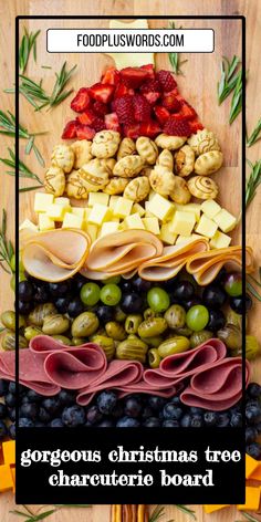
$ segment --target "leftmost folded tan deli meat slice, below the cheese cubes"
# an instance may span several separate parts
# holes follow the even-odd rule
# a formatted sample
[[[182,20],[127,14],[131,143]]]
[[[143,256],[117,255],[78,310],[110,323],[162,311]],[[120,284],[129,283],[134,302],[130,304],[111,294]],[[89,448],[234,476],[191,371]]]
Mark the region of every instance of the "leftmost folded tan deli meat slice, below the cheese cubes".
[[[72,278],[83,267],[90,250],[90,237],[77,229],[39,232],[22,250],[24,269],[34,278],[59,282]]]

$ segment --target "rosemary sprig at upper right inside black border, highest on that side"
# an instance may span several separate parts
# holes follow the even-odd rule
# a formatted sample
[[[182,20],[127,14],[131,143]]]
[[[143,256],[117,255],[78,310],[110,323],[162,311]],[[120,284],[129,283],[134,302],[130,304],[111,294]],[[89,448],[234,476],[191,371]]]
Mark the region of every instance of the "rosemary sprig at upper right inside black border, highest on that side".
[[[221,103],[229,96],[229,94],[234,90],[240,72],[238,65],[240,60],[238,56],[233,56],[231,62],[223,56],[221,62],[221,79],[218,82],[218,103]]]

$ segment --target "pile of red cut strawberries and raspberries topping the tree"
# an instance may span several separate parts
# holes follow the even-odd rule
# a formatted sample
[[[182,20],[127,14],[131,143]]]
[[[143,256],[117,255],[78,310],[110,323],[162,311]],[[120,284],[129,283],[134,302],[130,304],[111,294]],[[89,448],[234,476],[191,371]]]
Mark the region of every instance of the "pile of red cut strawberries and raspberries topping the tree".
[[[65,125],[63,139],[92,139],[103,129],[136,139],[160,133],[190,136],[203,128],[194,107],[179,94],[174,74],[156,72],[150,64],[107,69],[101,82],[79,90],[71,108],[76,117]]]

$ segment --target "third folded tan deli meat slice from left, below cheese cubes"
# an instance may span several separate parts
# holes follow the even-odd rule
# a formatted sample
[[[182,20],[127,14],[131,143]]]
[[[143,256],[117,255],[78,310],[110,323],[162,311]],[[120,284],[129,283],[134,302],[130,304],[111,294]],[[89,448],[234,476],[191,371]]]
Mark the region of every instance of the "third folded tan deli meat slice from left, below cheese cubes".
[[[209,243],[206,239],[165,247],[161,255],[139,265],[138,274],[148,281],[166,281],[177,275],[188,259],[194,259],[196,254],[205,253],[207,250],[209,250]]]

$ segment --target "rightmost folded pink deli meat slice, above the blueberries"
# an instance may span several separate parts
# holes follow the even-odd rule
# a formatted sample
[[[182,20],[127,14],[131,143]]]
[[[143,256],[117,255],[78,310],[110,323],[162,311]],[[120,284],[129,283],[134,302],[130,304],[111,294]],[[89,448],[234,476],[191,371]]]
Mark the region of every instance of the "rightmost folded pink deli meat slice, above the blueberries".
[[[246,361],[246,386],[250,378],[250,365]],[[242,359],[228,357],[212,368],[194,375],[181,393],[181,401],[188,406],[220,411],[233,406],[242,395]]]

